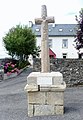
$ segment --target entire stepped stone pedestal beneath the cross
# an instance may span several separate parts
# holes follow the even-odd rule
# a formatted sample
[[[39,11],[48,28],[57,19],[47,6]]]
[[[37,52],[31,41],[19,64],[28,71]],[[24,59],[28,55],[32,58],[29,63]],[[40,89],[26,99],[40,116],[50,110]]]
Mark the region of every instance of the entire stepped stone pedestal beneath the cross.
[[[60,72],[32,72],[27,77],[28,116],[64,113],[66,84]]]

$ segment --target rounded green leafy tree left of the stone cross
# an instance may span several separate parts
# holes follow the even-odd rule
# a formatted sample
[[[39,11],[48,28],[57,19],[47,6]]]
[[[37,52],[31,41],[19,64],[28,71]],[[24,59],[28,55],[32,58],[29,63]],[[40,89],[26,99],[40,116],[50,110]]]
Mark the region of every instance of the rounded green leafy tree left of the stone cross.
[[[38,54],[35,52],[37,50],[36,36],[27,26],[17,25],[12,27],[3,37],[3,42],[12,58],[17,57],[26,60],[28,55]]]

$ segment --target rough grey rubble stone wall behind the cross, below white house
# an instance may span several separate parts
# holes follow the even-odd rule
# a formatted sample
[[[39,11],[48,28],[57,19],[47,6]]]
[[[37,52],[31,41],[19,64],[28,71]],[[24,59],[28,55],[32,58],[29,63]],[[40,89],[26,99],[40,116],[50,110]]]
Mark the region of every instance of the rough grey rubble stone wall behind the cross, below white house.
[[[63,74],[68,86],[83,85],[83,59],[51,59],[51,71]],[[34,59],[34,71],[41,71],[40,59]]]

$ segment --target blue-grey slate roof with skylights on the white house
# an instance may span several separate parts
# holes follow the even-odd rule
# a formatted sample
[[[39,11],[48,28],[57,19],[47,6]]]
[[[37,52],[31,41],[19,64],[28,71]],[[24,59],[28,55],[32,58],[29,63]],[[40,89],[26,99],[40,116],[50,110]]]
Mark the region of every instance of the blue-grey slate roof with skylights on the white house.
[[[36,36],[41,36],[41,25],[32,25],[32,30]],[[49,24],[49,36],[75,36],[76,24]]]

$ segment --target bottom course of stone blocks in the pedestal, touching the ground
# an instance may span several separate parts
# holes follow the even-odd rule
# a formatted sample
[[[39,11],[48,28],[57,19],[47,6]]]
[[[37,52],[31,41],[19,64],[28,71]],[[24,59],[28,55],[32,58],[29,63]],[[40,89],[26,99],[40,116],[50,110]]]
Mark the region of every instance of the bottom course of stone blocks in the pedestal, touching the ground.
[[[28,116],[63,115],[64,106],[28,104]]]

